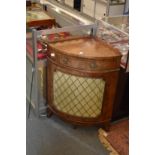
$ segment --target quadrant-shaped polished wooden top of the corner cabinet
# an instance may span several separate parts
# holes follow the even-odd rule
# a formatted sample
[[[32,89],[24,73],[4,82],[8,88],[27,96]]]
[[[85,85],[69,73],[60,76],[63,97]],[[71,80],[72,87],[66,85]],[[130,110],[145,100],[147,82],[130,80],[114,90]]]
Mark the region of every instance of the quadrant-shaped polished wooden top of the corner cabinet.
[[[49,46],[53,50],[64,54],[85,58],[111,58],[121,56],[117,49],[94,37],[65,40],[51,43]]]

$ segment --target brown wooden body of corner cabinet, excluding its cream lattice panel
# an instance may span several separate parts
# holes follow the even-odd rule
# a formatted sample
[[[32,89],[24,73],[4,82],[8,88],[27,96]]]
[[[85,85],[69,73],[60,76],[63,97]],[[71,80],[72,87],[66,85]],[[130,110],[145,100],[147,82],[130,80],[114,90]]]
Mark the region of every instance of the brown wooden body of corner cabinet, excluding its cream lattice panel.
[[[82,54],[81,54],[82,52]],[[109,129],[116,92],[121,54],[105,42],[94,37],[81,37],[48,44],[47,83],[48,114],[55,113],[74,125],[100,124]],[[54,73],[103,79],[106,82],[100,115],[85,118],[69,115],[54,104]],[[80,104],[80,103],[79,103]]]

